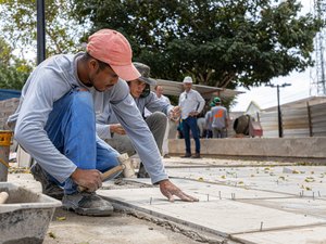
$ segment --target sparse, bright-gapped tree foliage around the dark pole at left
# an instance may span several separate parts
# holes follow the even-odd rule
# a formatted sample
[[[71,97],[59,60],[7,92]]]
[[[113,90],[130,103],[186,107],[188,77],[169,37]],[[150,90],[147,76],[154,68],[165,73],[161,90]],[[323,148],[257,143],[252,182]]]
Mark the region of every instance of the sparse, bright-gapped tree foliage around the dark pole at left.
[[[68,1],[45,4],[47,56],[80,49],[85,28],[71,18]],[[0,0],[0,88],[21,89],[36,65],[28,56],[36,53],[36,0]],[[14,50],[20,53],[14,55]]]

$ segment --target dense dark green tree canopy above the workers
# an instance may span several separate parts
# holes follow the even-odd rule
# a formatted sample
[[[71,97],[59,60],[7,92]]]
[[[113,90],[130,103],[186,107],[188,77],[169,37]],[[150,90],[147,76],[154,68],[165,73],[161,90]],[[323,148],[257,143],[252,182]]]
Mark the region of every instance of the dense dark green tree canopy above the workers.
[[[313,64],[322,22],[296,0],[74,0],[91,31],[113,28],[153,77],[228,87],[259,86]]]

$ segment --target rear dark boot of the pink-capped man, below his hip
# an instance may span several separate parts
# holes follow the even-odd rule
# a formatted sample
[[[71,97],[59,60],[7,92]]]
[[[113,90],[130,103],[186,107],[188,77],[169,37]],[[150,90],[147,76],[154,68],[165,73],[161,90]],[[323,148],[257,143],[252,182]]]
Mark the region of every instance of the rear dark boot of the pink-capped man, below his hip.
[[[41,183],[43,194],[55,200],[62,200],[63,189],[55,182],[49,180],[47,172],[39,166],[39,164],[34,164],[30,168],[30,172],[34,179]]]

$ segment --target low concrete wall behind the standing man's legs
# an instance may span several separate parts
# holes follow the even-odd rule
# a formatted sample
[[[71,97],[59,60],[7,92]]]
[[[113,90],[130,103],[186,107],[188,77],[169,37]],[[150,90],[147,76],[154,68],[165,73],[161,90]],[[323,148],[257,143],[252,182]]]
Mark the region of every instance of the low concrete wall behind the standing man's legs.
[[[183,139],[168,140],[170,154],[185,154]],[[195,142],[191,140],[195,152]],[[326,138],[227,138],[201,139],[201,154],[326,159]]]

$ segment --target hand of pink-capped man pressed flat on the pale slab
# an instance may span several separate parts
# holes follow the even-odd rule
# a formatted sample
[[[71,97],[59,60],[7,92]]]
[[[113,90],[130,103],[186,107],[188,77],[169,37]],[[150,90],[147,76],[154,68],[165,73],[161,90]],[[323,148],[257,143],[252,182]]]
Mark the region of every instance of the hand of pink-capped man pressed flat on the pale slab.
[[[165,195],[170,202],[174,202],[174,195],[178,196],[181,201],[185,202],[198,202],[199,200],[187,195],[180,189],[178,189],[175,184],[173,184],[170,180],[162,180],[159,182],[160,190],[163,195]]]

